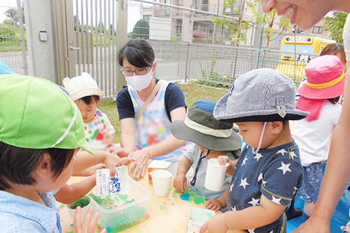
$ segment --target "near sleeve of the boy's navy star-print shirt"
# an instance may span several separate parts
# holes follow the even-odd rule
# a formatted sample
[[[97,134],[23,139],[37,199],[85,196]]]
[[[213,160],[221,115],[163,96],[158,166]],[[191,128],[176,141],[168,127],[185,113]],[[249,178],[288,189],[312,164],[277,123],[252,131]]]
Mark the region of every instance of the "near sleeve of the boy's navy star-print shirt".
[[[288,206],[301,186],[303,169],[291,159],[280,159],[263,174],[261,193],[271,201]]]

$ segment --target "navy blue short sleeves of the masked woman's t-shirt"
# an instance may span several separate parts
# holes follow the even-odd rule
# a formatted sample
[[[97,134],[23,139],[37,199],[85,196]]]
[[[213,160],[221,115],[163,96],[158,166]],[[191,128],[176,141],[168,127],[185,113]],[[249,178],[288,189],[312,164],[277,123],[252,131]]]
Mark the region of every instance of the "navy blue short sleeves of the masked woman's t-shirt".
[[[159,79],[156,79],[156,82],[158,81]],[[128,92],[128,87],[119,91],[116,101],[119,121],[124,118],[135,118],[135,110]],[[167,112],[167,118],[170,121],[172,121],[170,112],[180,107],[187,107],[185,96],[183,95],[183,91],[176,84],[171,82],[165,90],[165,110]]]

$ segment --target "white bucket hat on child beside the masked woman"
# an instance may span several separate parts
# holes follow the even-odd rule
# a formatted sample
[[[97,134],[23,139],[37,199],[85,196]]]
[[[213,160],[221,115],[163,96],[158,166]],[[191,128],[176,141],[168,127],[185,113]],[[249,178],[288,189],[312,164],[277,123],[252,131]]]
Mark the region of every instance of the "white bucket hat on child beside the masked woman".
[[[98,88],[95,79],[86,72],[72,78],[65,77],[63,85],[73,101],[91,95],[98,95],[100,98],[104,97],[104,92]]]

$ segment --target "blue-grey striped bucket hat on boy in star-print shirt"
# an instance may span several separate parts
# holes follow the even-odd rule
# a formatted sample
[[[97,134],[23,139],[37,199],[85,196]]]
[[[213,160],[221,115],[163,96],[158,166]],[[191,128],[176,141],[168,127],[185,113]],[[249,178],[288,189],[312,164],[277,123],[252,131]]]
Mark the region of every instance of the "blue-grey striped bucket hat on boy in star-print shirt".
[[[308,114],[295,109],[294,82],[266,68],[240,75],[213,112],[215,119],[228,122],[300,120]]]

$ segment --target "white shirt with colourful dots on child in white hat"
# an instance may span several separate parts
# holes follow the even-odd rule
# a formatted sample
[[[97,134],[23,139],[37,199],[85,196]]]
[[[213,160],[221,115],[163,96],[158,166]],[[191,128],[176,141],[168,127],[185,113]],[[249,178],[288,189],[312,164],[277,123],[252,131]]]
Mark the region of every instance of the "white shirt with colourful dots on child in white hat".
[[[105,149],[109,135],[115,134],[115,128],[108,116],[96,109],[93,121],[84,123],[85,140],[91,149]]]

